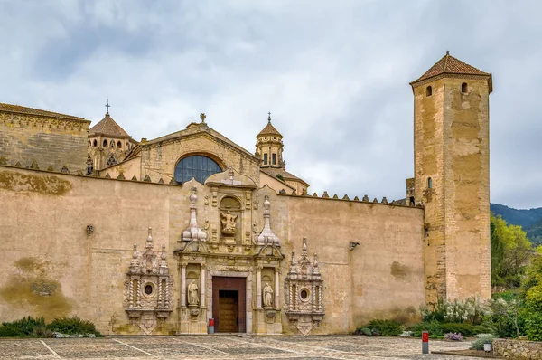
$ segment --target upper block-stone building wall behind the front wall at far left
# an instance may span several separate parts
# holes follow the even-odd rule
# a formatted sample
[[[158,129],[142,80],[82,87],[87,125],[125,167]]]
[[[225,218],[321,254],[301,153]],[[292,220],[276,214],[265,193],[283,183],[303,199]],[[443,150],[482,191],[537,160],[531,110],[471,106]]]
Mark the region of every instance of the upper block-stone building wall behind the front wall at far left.
[[[9,165],[85,172],[90,121],[0,112],[0,156]]]

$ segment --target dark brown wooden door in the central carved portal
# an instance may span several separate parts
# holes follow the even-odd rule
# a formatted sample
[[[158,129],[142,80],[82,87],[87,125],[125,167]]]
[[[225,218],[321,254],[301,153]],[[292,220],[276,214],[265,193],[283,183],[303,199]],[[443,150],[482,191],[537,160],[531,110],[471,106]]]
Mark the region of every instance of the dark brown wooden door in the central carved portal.
[[[212,316],[218,333],[244,333],[246,279],[212,278]]]

